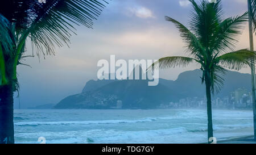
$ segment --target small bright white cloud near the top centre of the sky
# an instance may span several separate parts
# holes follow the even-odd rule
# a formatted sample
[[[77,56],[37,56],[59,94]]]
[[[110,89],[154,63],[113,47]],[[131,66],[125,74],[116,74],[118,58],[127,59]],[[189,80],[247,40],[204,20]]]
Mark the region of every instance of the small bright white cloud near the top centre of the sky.
[[[151,10],[146,7],[129,8],[129,15],[135,15],[139,18],[154,18]]]

